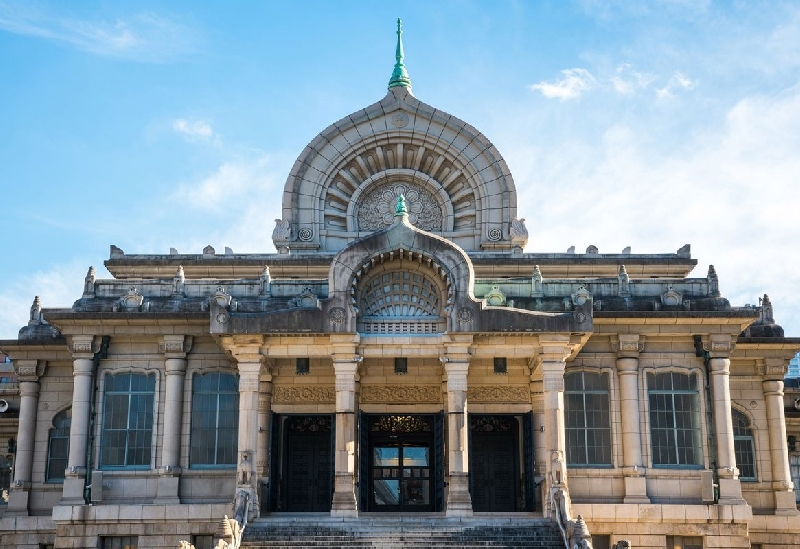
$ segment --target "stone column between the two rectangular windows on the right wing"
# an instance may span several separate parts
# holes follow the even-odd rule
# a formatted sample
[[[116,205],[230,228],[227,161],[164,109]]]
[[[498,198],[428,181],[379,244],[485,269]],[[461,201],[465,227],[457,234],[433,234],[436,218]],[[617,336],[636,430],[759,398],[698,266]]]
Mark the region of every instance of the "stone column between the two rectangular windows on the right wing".
[[[622,472],[625,476],[624,503],[650,503],[642,463],[642,435],[639,427],[639,353],[644,336],[619,334],[611,341],[617,352],[620,415],[622,416]]]

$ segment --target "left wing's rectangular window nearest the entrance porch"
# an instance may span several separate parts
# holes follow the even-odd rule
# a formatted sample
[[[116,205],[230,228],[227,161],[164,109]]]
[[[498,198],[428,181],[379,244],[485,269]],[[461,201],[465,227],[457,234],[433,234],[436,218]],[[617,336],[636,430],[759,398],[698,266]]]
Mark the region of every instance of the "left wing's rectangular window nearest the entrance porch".
[[[192,467],[236,466],[239,378],[221,372],[192,378]]]

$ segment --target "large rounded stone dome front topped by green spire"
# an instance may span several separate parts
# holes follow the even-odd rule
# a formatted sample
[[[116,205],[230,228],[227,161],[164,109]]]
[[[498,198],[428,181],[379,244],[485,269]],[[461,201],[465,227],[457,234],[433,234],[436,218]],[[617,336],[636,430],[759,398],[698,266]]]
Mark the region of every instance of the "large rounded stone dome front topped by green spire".
[[[339,251],[390,225],[400,194],[414,226],[468,252],[524,246],[508,166],[477,129],[414,97],[399,21],[397,32],[386,96],[328,126],[295,162],[275,247]]]

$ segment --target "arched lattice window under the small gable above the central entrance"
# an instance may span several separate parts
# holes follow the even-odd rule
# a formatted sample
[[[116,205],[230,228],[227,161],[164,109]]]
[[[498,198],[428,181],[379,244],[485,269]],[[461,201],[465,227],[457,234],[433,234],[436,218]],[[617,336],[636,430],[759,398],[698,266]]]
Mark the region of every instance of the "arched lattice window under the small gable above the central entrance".
[[[398,262],[402,267],[403,262]],[[445,329],[444,285],[425,270],[378,268],[358,285],[358,329],[372,334],[425,334]]]

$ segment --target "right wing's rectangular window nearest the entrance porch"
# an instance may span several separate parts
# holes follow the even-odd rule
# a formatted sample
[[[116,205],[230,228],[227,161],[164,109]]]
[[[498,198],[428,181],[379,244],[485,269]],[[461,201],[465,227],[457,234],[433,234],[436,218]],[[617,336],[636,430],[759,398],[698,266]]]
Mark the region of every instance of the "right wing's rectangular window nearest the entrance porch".
[[[564,376],[568,465],[611,465],[608,374]]]

